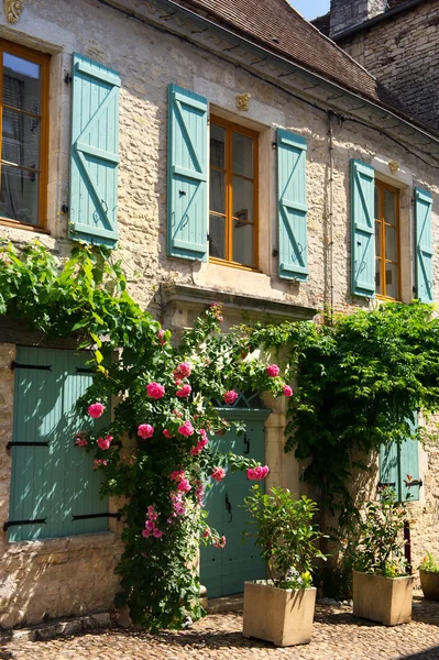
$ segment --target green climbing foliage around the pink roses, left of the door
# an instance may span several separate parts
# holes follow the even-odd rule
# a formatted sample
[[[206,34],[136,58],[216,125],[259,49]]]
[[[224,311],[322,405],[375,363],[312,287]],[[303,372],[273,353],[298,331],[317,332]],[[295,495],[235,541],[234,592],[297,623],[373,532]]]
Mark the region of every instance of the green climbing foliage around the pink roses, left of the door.
[[[76,245],[59,265],[40,243],[20,254],[3,243],[0,314],[24,319],[48,337],[77,334],[80,346],[91,351],[94,382],[77,404],[78,415],[86,417],[90,404],[108,406],[111,398],[112,421],[100,433],[112,441],[102,449],[101,439],[83,432],[76,443],[77,451],[92,451],[96,469],[105,472],[102,492],[125,501],[117,605],[127,604],[132,620],[149,630],[179,628],[188,615],[196,619],[204,614],[193,568],[199,542],[222,542],[220,532],[207,526],[204,487],[213,469],[227,462],[232,470],[257,465],[209,447],[198,452],[197,444],[229,428],[216,408],[227,391],[276,396],[284,382],[248,358],[245,336],[220,331],[216,304],[184,333],[180,345],[172,345],[171,332],[130,297],[121,265],[111,255],[103,248]],[[174,372],[182,362],[190,374],[179,377]],[[154,382],[165,388],[162,398],[147,395],[146,386]],[[178,397],[182,384],[189,383],[190,394]],[[194,429],[190,435],[179,431],[185,422]],[[152,437],[142,439],[140,425],[151,425]],[[186,480],[188,492],[171,479],[175,472]],[[149,512],[158,536],[147,534]]]

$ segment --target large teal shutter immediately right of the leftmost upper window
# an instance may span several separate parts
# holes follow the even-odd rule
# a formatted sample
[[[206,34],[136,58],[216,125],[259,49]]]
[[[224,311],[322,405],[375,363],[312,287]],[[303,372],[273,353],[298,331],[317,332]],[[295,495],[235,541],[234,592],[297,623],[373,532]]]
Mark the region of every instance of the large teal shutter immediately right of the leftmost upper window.
[[[119,75],[74,54],[70,239],[118,241]]]

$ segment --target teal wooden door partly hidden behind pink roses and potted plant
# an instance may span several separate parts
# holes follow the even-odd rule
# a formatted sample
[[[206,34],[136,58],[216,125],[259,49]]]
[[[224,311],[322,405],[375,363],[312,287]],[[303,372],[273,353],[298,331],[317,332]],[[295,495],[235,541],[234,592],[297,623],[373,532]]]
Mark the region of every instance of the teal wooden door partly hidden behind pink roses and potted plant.
[[[246,433],[237,436],[230,431],[212,441],[221,451],[232,450],[265,462],[264,420],[249,419]],[[241,593],[245,580],[263,580],[265,563],[251,538],[242,541],[249,515],[243,508],[244,497],[255,482],[248,481],[245,472],[227,472],[226,479],[207,491],[206,508],[208,525],[227,539],[226,548],[201,547],[200,581],[209,598]]]

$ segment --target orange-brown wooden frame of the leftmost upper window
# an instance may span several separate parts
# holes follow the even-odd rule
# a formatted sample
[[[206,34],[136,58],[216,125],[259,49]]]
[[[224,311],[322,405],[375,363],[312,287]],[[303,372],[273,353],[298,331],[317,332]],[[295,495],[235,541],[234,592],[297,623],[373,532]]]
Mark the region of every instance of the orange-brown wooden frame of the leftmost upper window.
[[[11,106],[4,106],[8,109],[12,109],[17,112],[22,112],[26,116],[35,117],[40,120],[40,163],[35,172],[40,175],[40,189],[39,189],[39,224],[28,224],[20,220],[11,218],[2,218],[0,216],[0,224],[7,227],[17,227],[25,229],[28,231],[39,231],[48,233],[46,229],[46,211],[47,211],[47,183],[48,183],[48,81],[50,81],[50,65],[51,56],[46,53],[40,53],[25,46],[14,44],[7,40],[0,38],[0,127],[3,125],[3,53],[11,53],[17,57],[23,57],[34,64],[41,66],[41,114],[33,114],[32,112],[18,110]],[[3,131],[0,131],[0,177],[1,166],[3,165],[2,155],[2,142]],[[25,167],[23,167],[25,169]]]

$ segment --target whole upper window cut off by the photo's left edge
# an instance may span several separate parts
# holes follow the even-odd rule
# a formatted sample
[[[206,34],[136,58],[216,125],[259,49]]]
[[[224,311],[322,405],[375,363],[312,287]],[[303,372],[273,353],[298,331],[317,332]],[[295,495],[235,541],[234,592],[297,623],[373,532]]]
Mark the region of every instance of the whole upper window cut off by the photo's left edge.
[[[0,40],[0,220],[43,227],[48,144],[48,55]]]

